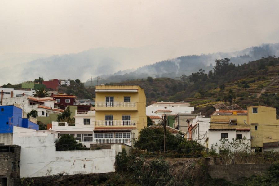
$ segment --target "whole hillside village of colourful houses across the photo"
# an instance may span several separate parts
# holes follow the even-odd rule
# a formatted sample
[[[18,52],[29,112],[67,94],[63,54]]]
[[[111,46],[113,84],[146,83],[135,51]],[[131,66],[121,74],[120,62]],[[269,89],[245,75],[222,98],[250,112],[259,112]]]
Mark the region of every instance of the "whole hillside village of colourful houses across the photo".
[[[0,184],[14,185],[24,177],[114,172],[117,154],[122,149],[130,154],[145,128],[165,128],[217,154],[237,140],[241,143],[232,151],[279,150],[279,120],[272,107],[243,109],[218,103],[205,117],[183,100],[146,106],[139,86],[101,84],[92,101],[57,92],[58,85],[68,84],[69,80],[54,79],[42,84],[27,81],[21,90],[0,88]],[[44,88],[45,97],[38,96]],[[74,120],[58,120],[66,112]],[[46,129],[39,129],[38,123]],[[64,134],[90,150],[59,150],[55,142]]]

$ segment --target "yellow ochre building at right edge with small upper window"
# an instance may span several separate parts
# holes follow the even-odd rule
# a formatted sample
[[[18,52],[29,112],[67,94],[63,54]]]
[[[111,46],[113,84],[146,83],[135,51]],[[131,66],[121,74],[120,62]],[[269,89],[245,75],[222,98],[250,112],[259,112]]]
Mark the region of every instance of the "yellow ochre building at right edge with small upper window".
[[[250,128],[251,147],[260,150],[279,148],[279,120],[276,109],[266,106],[250,106],[247,110],[219,110],[211,115],[210,129]],[[210,138],[210,137],[209,137]]]

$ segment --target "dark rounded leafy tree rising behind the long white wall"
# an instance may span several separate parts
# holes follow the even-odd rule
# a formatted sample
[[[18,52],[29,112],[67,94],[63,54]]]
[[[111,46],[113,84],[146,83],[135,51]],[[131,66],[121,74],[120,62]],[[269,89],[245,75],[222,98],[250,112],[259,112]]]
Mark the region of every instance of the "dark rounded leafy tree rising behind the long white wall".
[[[78,143],[75,138],[69,134],[60,136],[55,141],[56,151],[72,151],[72,150],[89,150],[82,143]]]

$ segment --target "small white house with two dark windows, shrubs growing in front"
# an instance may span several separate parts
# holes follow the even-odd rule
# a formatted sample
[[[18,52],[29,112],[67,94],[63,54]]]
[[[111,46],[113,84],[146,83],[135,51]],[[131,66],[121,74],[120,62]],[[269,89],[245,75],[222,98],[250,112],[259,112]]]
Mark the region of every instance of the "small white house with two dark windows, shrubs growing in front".
[[[221,139],[228,139],[225,144],[222,144]],[[234,140],[243,140],[246,145],[239,143],[237,148],[233,147],[229,143],[233,143]],[[239,141],[240,142],[240,141]],[[235,142],[237,143],[237,142]],[[213,148],[219,153],[220,150],[224,148],[230,148],[231,151],[250,151],[251,148],[251,131],[250,129],[209,129],[209,141],[208,141],[209,149]],[[247,146],[249,148],[247,148]]]

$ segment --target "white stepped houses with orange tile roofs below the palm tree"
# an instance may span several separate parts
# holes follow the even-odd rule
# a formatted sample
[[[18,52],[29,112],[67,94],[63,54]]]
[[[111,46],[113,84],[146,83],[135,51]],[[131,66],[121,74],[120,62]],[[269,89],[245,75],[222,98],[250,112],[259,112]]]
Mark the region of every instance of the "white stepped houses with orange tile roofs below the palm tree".
[[[38,98],[32,96],[20,96],[13,98],[3,98],[2,105],[18,105],[23,111],[23,118],[27,118],[27,113],[32,110],[38,111],[38,116],[49,116],[53,113],[62,113],[59,104],[51,97]]]

